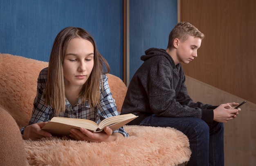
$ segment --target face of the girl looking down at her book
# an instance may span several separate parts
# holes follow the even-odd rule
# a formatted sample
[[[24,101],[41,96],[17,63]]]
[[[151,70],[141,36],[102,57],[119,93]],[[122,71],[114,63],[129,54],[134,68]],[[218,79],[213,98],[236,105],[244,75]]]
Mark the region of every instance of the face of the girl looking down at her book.
[[[90,41],[82,38],[70,40],[63,61],[65,88],[81,88],[92,73],[94,48]]]

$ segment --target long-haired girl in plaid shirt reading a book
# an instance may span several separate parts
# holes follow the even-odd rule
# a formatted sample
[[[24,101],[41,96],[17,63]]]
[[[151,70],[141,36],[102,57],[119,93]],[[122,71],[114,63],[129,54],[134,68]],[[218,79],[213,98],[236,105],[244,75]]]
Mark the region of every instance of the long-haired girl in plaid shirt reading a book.
[[[51,137],[41,128],[54,116],[82,118],[99,123],[118,115],[115,100],[108,86],[108,62],[96,48],[92,36],[81,28],[67,27],[54,40],[49,66],[38,77],[29,125],[20,129],[24,139]],[[129,137],[121,127],[112,131],[92,133],[85,128],[70,130],[76,140],[102,142]]]

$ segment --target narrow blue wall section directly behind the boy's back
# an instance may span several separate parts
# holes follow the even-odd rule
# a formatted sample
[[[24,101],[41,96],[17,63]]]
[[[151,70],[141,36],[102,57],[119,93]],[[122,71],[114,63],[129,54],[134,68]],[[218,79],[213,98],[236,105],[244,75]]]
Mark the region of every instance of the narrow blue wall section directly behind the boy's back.
[[[130,80],[144,51],[166,49],[168,36],[177,24],[177,0],[130,0]]]

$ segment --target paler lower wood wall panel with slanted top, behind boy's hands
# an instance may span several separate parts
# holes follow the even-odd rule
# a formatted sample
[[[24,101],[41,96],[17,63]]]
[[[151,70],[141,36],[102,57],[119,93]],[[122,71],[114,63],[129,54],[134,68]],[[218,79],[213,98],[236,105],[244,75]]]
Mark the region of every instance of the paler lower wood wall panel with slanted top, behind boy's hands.
[[[194,102],[219,105],[245,100],[188,76],[186,86]],[[236,119],[224,124],[225,166],[255,166],[256,163],[256,104],[247,102],[241,110]]]

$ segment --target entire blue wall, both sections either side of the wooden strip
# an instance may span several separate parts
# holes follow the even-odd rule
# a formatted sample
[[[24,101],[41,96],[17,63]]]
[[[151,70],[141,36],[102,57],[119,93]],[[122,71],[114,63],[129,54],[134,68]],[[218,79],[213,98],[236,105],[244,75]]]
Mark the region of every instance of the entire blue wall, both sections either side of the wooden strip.
[[[150,47],[166,49],[177,0],[130,0],[130,79]],[[1,0],[0,53],[48,61],[61,29],[86,29],[123,79],[123,0]]]

